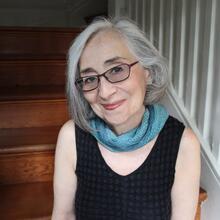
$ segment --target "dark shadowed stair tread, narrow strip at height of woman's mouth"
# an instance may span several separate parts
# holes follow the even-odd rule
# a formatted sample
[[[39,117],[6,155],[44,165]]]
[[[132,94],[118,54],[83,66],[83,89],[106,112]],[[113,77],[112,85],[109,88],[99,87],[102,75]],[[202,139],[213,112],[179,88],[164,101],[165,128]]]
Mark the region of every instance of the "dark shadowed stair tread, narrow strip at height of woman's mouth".
[[[1,87],[0,101],[64,99],[65,86],[18,86]]]

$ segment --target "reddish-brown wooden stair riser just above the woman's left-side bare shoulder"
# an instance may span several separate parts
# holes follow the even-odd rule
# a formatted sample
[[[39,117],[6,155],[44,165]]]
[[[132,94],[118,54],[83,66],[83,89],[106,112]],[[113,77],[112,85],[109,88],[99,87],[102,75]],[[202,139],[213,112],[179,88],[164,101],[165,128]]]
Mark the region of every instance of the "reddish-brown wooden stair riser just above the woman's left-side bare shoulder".
[[[0,102],[0,129],[59,126],[67,120],[64,99]]]

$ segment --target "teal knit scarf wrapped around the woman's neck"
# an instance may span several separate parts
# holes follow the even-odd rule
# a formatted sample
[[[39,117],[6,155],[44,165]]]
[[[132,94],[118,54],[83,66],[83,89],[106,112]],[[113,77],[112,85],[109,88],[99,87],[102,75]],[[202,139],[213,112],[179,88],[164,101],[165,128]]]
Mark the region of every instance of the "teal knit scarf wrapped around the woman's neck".
[[[150,105],[146,108],[140,125],[117,136],[100,118],[90,121],[92,135],[104,147],[112,152],[133,151],[153,140],[163,128],[168,113],[162,105]]]

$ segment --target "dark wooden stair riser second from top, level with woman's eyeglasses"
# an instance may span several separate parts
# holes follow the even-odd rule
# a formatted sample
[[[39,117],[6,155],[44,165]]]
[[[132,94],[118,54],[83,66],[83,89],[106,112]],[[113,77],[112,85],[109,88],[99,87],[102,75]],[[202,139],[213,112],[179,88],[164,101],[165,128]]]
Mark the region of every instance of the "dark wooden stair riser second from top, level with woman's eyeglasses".
[[[0,61],[0,86],[64,85],[66,60]]]

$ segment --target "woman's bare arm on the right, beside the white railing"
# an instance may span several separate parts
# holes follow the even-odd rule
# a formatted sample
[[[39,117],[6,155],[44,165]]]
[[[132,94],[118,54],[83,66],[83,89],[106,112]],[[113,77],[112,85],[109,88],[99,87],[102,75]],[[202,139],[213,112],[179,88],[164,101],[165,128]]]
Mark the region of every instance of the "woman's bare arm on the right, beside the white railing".
[[[185,129],[176,162],[172,188],[172,220],[194,220],[199,196],[200,144],[191,129]]]

